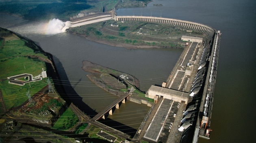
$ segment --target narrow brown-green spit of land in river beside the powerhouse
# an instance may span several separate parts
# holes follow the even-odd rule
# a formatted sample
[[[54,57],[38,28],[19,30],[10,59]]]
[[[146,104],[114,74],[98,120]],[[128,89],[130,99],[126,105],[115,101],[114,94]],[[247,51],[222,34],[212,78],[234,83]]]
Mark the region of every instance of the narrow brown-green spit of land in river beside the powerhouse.
[[[141,100],[144,100],[145,103],[153,102],[152,99],[145,97],[144,91],[139,89],[139,80],[134,76],[96,63],[91,63],[90,61],[84,60],[82,63],[82,69],[91,73],[87,77],[109,93],[119,97],[130,94],[128,100],[137,103],[141,103]]]

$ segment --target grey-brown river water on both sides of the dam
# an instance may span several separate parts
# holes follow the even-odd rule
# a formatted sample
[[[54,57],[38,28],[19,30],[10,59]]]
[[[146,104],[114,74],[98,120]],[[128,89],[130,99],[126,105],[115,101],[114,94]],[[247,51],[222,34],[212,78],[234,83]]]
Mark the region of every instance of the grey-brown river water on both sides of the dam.
[[[163,6],[153,6],[163,4]],[[255,0],[153,0],[146,8],[124,8],[117,15],[143,15],[193,21],[221,30],[217,80],[211,118],[210,140],[199,143],[252,143],[254,138],[256,39]],[[10,29],[39,44],[54,56],[61,80],[69,80],[73,99],[96,112],[117,99],[90,82],[81,69],[88,60],[132,74],[141,90],[167,79],[182,50],[113,47],[85,40],[69,33],[41,34],[42,23],[0,15],[0,27]],[[69,93],[69,91],[67,91]],[[74,92],[70,93],[72,97]],[[127,102],[110,119],[137,129],[149,107]],[[139,118],[140,117],[140,118]],[[106,121],[108,122],[108,121]]]

